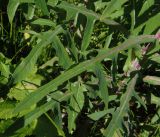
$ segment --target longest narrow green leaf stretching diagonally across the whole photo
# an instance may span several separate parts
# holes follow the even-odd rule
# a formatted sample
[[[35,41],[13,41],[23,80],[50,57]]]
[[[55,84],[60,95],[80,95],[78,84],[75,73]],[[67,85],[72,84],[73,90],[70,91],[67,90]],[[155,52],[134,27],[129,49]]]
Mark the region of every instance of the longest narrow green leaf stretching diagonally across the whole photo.
[[[118,54],[120,51],[126,50],[128,48],[131,48],[135,46],[136,44],[145,43],[145,42],[151,42],[154,41],[155,37],[153,35],[142,35],[134,38],[130,38],[126,40],[121,45],[111,48],[109,50],[106,50],[101,55],[98,55],[97,57],[86,60],[82,63],[79,63],[75,67],[67,70],[66,72],[59,75],[54,80],[48,82],[44,86],[40,87],[35,91],[34,93],[31,93],[28,95],[23,101],[21,101],[15,108],[15,113],[20,112],[32,104],[37,103],[40,101],[43,97],[45,97],[49,92],[54,91],[57,89],[59,85],[61,85],[63,82],[69,80],[70,78],[73,78],[82,72],[88,70],[92,65],[94,65],[97,62],[102,61],[103,59],[110,57],[111,55]]]

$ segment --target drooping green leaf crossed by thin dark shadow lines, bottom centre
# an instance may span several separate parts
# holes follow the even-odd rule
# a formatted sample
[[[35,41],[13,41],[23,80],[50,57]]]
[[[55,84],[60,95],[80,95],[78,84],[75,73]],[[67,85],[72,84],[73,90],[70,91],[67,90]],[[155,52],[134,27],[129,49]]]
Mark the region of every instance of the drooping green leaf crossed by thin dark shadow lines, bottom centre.
[[[70,98],[68,112],[68,130],[69,133],[72,133],[76,129],[76,118],[81,112],[84,105],[84,94],[85,91],[84,85],[81,85],[80,82],[73,83],[70,86],[70,91],[73,92],[73,96]]]

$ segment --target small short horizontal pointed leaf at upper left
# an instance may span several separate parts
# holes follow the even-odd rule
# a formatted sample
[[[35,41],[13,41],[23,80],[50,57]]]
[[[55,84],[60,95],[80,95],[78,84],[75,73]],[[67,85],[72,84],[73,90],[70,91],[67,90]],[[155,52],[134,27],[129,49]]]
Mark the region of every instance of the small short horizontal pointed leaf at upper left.
[[[36,24],[36,25],[46,25],[46,26],[51,26],[51,27],[55,27],[56,24],[49,20],[49,19],[43,19],[43,18],[38,18],[37,20],[34,20],[33,22],[31,22],[32,24]]]

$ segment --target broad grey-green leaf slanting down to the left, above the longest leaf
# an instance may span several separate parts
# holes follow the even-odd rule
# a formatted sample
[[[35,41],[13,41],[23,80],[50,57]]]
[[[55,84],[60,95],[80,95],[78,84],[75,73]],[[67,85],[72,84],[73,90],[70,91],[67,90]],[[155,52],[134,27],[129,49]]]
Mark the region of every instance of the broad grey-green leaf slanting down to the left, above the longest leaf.
[[[34,65],[40,55],[42,49],[53,42],[53,38],[58,33],[62,32],[62,28],[58,26],[54,31],[49,31],[43,37],[43,39],[38,43],[29,53],[29,55],[18,65],[13,73],[14,83],[25,80],[27,76],[32,72]]]

